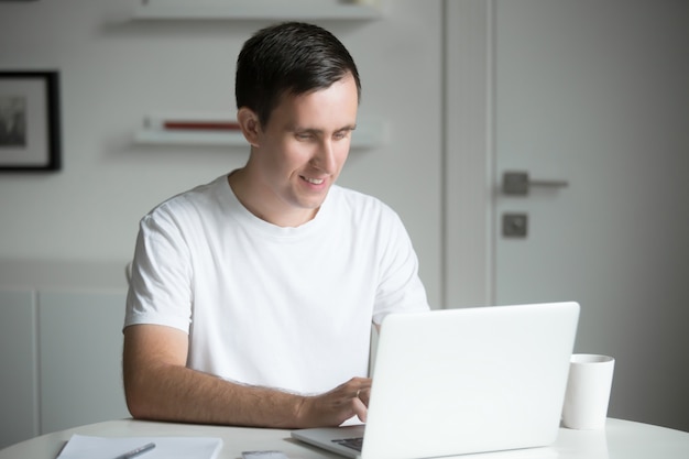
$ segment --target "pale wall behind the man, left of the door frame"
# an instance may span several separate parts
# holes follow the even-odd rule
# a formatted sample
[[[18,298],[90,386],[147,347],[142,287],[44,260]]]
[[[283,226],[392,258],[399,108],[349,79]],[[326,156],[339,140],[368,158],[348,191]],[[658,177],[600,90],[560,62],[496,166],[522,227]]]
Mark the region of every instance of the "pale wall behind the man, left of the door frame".
[[[45,266],[59,273],[63,263],[108,265],[107,282],[112,266],[130,259],[143,214],[247,159],[243,147],[142,146],[132,138],[151,112],[234,110],[237,54],[273,21],[133,21],[135,3],[0,3],[0,68],[61,72],[64,164],[56,174],[0,175],[0,286],[17,281],[18,263],[25,284],[50,282]],[[440,23],[439,1],[391,2],[379,21],[321,22],[358,62],[360,117],[391,127],[383,147],[351,153],[340,184],[401,214],[434,305],[441,269]]]

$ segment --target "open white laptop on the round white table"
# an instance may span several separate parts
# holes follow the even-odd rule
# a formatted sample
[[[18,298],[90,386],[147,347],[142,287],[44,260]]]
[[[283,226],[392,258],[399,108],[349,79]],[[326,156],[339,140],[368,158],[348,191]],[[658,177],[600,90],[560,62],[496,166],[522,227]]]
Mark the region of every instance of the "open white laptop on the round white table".
[[[390,315],[381,326],[361,451],[341,440],[363,435],[363,425],[292,437],[362,459],[551,445],[578,319],[575,302]]]

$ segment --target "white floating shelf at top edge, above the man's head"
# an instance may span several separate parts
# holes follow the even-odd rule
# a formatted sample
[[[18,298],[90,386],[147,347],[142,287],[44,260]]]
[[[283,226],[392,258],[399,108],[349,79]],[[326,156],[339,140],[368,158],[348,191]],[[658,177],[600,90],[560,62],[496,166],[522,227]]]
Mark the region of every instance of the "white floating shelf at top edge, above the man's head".
[[[359,3],[302,3],[293,1],[142,1],[134,10],[138,20],[375,20],[381,8]]]

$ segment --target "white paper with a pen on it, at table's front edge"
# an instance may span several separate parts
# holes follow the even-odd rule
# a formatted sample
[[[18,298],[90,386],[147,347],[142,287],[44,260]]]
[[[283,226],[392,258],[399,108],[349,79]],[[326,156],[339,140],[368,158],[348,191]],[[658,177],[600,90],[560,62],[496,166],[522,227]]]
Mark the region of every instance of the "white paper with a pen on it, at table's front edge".
[[[222,448],[216,437],[88,437],[74,435],[57,459],[113,459],[147,442],[155,448],[136,459],[215,459]]]

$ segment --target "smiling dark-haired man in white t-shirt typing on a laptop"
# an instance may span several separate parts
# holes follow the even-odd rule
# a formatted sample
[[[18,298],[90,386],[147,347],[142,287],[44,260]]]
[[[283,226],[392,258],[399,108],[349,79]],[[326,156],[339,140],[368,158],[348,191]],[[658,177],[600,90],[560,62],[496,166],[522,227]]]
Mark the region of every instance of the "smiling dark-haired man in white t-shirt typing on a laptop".
[[[360,88],[344,46],[318,26],[278,24],[244,44],[245,166],[141,221],[123,351],[134,417],[282,428],[365,419],[371,323],[428,305],[397,216],[333,185]]]

